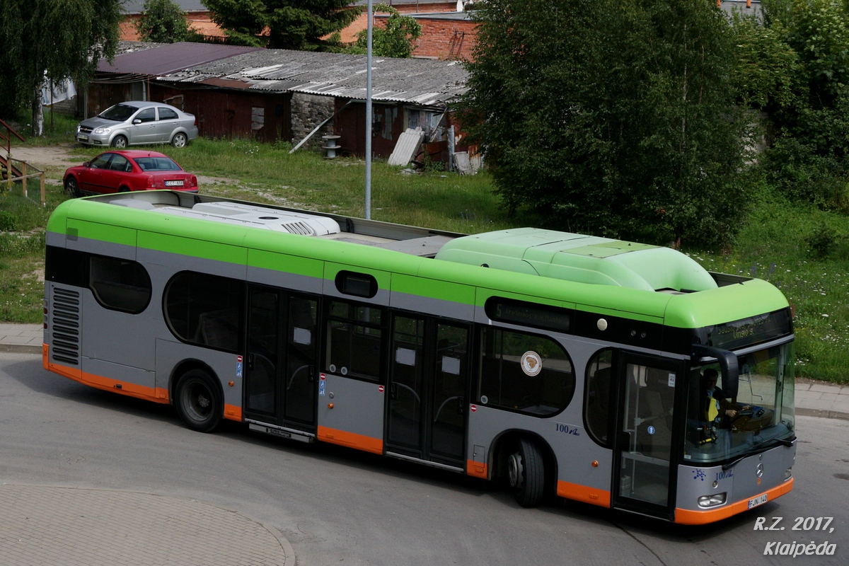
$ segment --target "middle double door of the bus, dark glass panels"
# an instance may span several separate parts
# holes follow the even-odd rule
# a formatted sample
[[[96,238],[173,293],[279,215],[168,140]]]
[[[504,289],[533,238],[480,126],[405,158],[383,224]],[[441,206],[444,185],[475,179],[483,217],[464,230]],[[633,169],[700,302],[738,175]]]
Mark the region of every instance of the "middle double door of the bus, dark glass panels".
[[[464,468],[469,328],[396,315],[391,344],[386,451]]]

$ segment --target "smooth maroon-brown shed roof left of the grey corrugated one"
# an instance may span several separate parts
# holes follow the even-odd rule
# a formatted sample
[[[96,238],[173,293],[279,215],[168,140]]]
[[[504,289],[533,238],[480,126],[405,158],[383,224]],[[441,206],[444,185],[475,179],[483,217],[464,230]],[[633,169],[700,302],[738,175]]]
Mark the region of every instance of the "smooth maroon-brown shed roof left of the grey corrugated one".
[[[261,51],[262,48],[247,48],[235,45],[212,43],[162,43],[154,48],[132,51],[117,55],[110,64],[100,59],[98,72],[136,74],[147,76],[167,75],[217,59],[226,59],[240,53]]]

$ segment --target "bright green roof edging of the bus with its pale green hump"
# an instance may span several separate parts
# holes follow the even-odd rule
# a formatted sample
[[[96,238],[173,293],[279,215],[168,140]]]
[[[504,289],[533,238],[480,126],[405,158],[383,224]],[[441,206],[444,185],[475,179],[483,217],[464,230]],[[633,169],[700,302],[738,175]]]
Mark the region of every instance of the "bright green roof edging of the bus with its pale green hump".
[[[197,200],[220,202],[206,195],[167,191],[70,199],[53,211],[48,233],[67,235],[71,245],[76,238],[88,238],[306,277],[329,277],[334,266],[356,268],[377,277],[381,289],[393,292],[479,306],[489,296],[498,295],[678,328],[705,327],[787,306],[779,289],[765,281],[737,277],[733,283],[717,287],[710,273],[674,249],[610,238],[535,228],[461,235],[442,245],[436,258],[448,261],[439,261],[378,245],[354,244],[351,238],[327,239],[351,235],[344,228],[340,234],[316,238],[260,226],[278,219],[222,222],[210,218],[212,209],[205,206],[196,210],[204,210],[201,215],[175,215],[148,206],[115,206],[116,199],[146,199],[157,206],[188,204],[188,209]],[[267,216],[265,210],[245,210],[263,205],[240,204],[245,206],[230,207],[233,220],[242,213]],[[274,210],[270,216],[279,215],[280,220],[296,216],[291,212],[294,210]],[[303,210],[297,214],[330,216]],[[336,217],[341,226],[346,225],[344,218]],[[408,233],[408,238],[429,234],[422,229],[415,229],[417,233],[411,227],[367,222],[371,222],[364,225],[368,230],[385,233],[386,238],[397,237],[399,231]],[[324,227],[334,231],[332,224]],[[492,269],[481,269],[484,263]],[[704,292],[657,293],[657,289]]]

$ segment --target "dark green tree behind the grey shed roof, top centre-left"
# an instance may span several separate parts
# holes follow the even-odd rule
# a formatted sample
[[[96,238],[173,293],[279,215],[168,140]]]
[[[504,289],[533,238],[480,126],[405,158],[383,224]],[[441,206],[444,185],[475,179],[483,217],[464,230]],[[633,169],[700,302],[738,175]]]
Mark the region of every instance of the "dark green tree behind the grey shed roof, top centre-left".
[[[361,8],[350,0],[203,0],[235,45],[322,51],[322,39],[346,28]]]

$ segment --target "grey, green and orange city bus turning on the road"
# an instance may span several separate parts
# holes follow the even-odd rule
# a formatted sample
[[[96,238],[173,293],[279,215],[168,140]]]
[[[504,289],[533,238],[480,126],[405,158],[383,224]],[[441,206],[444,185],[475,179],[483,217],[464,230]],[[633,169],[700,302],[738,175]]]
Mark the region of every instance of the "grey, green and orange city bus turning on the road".
[[[46,244],[44,367],[190,429],[678,524],[793,487],[790,305],[675,249],[172,191],[70,199]]]

